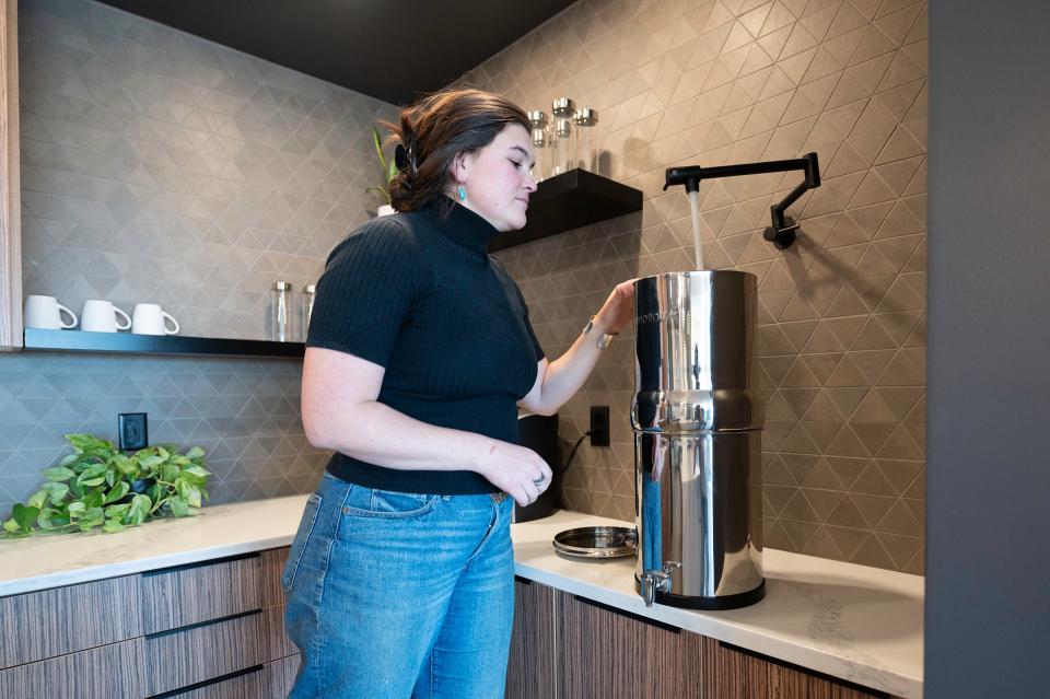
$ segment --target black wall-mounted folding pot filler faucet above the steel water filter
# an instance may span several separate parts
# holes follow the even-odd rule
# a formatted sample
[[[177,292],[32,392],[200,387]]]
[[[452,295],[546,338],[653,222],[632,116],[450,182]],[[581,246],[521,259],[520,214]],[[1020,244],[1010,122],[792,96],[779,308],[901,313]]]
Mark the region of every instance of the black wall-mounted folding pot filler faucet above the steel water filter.
[[[668,167],[665,174],[664,189],[674,185],[685,185],[686,193],[689,195],[690,202],[696,201],[697,191],[700,189],[701,179],[715,179],[718,177],[737,177],[739,175],[765,175],[768,173],[782,173],[793,170],[805,172],[805,179],[801,185],[791,190],[783,201],[770,207],[773,224],[766,229],[762,237],[771,241],[778,249],[786,249],[795,242],[795,231],[798,224],[789,215],[784,215],[784,210],[793,205],[798,197],[808,189],[820,186],[820,166],[817,163],[816,153],[806,153],[795,160],[772,160],[765,163],[743,163],[739,165],[722,165],[719,167],[701,167],[700,165],[685,165],[680,167]],[[693,206],[696,210],[696,206]],[[696,211],[693,215],[693,226],[699,226]],[[698,231],[697,231],[698,232]],[[701,266],[698,264],[698,269]]]

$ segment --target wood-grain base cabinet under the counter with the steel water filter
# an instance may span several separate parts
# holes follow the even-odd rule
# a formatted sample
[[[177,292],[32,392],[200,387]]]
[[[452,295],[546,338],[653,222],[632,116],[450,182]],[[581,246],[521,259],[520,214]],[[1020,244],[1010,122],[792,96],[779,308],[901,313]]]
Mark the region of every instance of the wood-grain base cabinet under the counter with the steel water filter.
[[[508,699],[896,699],[539,583],[515,583]]]

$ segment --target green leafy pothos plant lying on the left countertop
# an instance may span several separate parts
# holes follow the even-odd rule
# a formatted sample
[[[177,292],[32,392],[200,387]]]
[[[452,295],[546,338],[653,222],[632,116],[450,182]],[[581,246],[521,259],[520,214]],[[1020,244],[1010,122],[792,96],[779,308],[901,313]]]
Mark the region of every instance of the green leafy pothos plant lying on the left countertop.
[[[159,444],[124,454],[93,434],[67,434],[73,453],[3,522],[8,537],[34,532],[120,532],[147,520],[196,514],[208,499],[205,451]]]

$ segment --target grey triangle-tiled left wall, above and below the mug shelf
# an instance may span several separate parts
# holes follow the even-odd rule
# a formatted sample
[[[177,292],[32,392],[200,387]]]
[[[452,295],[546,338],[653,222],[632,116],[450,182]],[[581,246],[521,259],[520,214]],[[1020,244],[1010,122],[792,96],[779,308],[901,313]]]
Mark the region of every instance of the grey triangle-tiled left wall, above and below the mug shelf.
[[[160,303],[184,335],[262,338],[267,290],[314,281],[380,203],[393,105],[89,0],[19,15],[24,292]],[[66,452],[147,411],[208,451],[213,502],[304,492],[301,363],[0,354],[0,516]]]

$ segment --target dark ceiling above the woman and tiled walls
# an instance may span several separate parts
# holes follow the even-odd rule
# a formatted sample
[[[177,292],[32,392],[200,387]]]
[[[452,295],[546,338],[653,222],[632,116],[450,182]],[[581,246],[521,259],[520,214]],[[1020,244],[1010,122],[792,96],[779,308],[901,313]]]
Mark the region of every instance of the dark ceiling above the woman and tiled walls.
[[[102,0],[275,63],[408,104],[573,0]]]

